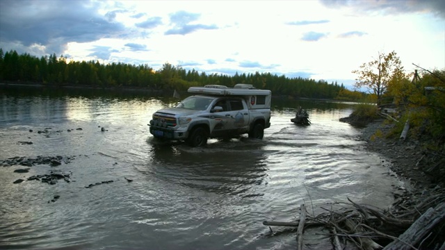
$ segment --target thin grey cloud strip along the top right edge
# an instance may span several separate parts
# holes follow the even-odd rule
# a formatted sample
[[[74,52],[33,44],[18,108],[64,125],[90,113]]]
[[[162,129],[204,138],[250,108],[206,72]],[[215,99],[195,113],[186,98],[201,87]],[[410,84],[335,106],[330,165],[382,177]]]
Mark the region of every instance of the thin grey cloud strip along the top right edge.
[[[328,8],[350,7],[358,12],[382,12],[384,15],[396,15],[407,12],[432,12],[445,18],[444,0],[319,0]]]

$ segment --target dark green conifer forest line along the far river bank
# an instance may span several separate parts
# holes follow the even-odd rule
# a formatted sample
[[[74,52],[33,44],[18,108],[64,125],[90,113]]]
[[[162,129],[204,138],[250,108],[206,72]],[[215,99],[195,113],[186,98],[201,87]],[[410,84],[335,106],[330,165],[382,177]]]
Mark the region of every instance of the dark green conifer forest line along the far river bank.
[[[234,86],[236,83],[252,84],[255,88],[268,89],[274,95],[294,98],[341,99],[357,101],[366,94],[350,91],[343,83],[327,83],[309,78],[288,78],[284,75],[259,73],[225,74],[199,73],[165,63],[159,70],[149,65],[108,63],[98,61],[68,62],[56,54],[40,58],[29,53],[0,49],[0,81],[40,83],[44,85],[87,85],[99,88],[149,88],[150,90],[186,91],[192,86],[207,84]]]

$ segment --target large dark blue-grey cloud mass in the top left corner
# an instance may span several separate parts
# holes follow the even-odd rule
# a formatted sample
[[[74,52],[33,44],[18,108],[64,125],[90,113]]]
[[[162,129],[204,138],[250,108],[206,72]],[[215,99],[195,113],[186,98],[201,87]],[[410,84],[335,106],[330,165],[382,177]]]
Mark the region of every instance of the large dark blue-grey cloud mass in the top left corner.
[[[0,1],[1,42],[29,47],[40,44],[46,53],[62,53],[68,42],[92,42],[100,38],[122,37],[122,24],[108,22],[97,12],[100,2],[87,1]],[[15,49],[15,48],[11,48]]]

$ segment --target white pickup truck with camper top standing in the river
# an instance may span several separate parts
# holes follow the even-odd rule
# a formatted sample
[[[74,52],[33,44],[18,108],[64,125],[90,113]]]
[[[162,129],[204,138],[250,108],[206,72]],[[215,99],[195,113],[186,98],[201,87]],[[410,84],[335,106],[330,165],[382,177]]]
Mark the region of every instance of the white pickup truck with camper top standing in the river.
[[[207,138],[234,138],[248,133],[262,139],[270,127],[270,90],[259,90],[248,84],[234,88],[223,85],[191,87],[195,94],[175,108],[157,110],[149,122],[155,138],[184,140],[191,147],[202,147]]]

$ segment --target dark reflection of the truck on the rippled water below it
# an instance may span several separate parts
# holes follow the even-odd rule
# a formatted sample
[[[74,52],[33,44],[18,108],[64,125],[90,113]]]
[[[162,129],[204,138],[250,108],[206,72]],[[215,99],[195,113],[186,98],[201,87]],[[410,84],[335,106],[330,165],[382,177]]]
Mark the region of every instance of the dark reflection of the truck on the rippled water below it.
[[[264,185],[267,157],[262,142],[210,142],[204,148],[185,144],[153,145],[147,172],[188,188],[217,194],[252,196],[254,185]]]

